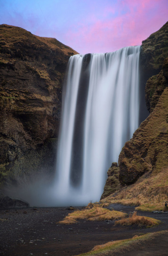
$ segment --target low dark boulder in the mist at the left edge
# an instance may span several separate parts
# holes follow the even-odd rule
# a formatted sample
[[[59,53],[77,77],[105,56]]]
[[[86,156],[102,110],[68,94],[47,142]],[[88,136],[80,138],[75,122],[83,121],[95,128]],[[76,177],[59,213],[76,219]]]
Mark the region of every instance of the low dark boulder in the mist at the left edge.
[[[10,208],[27,208],[29,203],[22,201],[20,199],[13,199],[8,196],[0,198],[0,208],[10,209]]]

